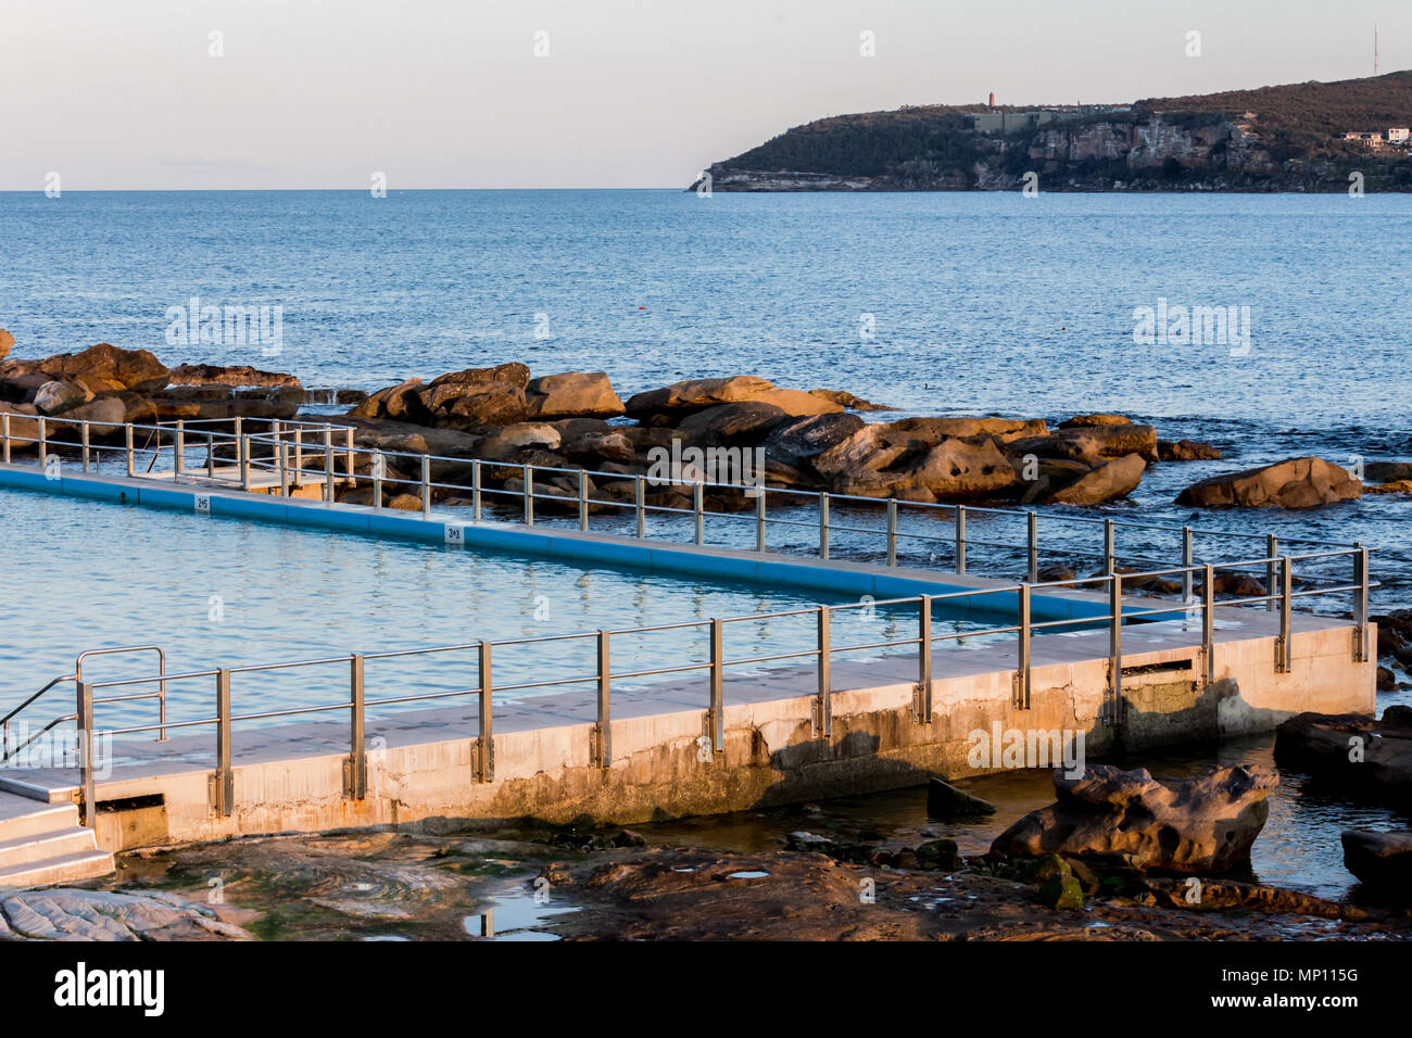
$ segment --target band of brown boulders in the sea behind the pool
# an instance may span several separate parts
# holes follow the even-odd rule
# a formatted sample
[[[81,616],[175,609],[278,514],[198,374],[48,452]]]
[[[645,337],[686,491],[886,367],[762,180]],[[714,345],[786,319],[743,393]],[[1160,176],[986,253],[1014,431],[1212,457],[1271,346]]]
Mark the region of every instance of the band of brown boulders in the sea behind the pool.
[[[0,412],[11,435],[37,436],[37,419],[62,431],[89,422],[233,425],[236,419],[287,421],[306,393],[292,374],[253,367],[162,366],[147,350],[100,343],[41,360],[6,359],[13,340],[0,333]],[[1059,504],[1086,507],[1125,499],[1152,465],[1219,460],[1220,452],[1190,439],[1162,439],[1148,424],[1091,414],[1051,428],[1042,418],[908,417],[867,421],[888,410],[849,391],[794,390],[758,376],[695,378],[630,395],[626,401],[603,371],[532,377],[528,366],[448,371],[411,378],[370,395],[335,394],[350,405],[322,421],[350,426],[359,453],[356,475],[371,472],[371,451],[432,453],[432,480],[469,487],[469,462],[491,462],[487,487],[521,489],[524,465],[565,470],[537,486],[575,507],[587,470],[594,508],[633,501],[634,479],[651,477],[648,506],[690,507],[695,480],[926,504]],[[258,428],[264,428],[263,425]],[[95,428],[102,439],[102,428]],[[109,434],[112,438],[112,434]],[[23,451],[24,445],[16,445]],[[460,462],[466,462],[462,465]],[[388,507],[419,507],[400,493],[419,482],[419,466],[391,459]],[[1412,463],[1367,466],[1384,477],[1371,491],[1412,493]],[[1176,499],[1204,508],[1308,508],[1354,500],[1364,484],[1319,458],[1295,458],[1193,483]],[[371,489],[345,489],[346,500],[370,504]],[[465,500],[438,487],[436,500]],[[551,500],[552,506],[552,500]],[[710,489],[707,507],[750,507],[740,490]]]

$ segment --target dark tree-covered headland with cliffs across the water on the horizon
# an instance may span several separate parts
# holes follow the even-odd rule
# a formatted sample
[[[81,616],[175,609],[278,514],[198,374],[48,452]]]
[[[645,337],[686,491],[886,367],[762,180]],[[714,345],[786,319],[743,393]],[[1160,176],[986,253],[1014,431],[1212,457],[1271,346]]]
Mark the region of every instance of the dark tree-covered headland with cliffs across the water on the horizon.
[[[1412,191],[1412,71],[1124,106],[908,106],[820,119],[709,168],[713,191]],[[695,186],[695,185],[693,185]]]

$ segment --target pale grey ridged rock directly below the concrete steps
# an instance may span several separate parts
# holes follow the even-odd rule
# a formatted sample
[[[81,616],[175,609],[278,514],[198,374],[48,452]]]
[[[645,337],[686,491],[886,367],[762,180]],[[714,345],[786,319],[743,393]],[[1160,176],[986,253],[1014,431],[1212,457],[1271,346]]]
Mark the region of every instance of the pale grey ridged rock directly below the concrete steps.
[[[34,890],[0,905],[10,928],[41,941],[250,941],[206,905],[158,891]]]

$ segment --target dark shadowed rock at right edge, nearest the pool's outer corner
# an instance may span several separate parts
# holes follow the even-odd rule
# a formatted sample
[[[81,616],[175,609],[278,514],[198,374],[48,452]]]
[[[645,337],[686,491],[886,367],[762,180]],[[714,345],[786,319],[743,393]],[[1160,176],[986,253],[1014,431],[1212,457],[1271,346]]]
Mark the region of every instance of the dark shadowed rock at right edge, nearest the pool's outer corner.
[[[1381,720],[1360,713],[1300,713],[1275,732],[1275,760],[1360,797],[1412,806],[1412,709]]]

